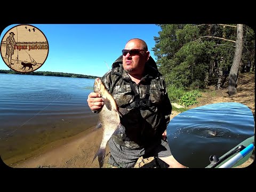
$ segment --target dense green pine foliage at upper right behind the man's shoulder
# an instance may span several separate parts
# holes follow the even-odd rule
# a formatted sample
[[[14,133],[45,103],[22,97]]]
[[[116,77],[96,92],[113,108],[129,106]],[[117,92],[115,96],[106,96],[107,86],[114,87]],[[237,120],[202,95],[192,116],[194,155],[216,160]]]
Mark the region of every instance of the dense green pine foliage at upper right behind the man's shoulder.
[[[229,74],[233,64],[236,24],[163,24],[153,47],[159,71],[167,86],[205,88],[216,85],[220,70]],[[231,27],[235,26],[235,27]],[[214,38],[217,37],[217,38]],[[242,62],[246,71],[255,63],[255,33],[244,25]],[[173,98],[178,97],[172,95]]]

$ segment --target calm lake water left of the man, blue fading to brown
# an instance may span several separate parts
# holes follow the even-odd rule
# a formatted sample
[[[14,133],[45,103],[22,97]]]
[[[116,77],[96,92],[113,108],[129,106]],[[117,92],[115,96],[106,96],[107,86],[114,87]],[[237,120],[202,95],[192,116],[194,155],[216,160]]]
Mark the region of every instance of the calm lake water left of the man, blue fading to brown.
[[[94,79],[16,74],[0,74],[0,79],[3,161],[26,158],[47,143],[97,124],[86,101]]]

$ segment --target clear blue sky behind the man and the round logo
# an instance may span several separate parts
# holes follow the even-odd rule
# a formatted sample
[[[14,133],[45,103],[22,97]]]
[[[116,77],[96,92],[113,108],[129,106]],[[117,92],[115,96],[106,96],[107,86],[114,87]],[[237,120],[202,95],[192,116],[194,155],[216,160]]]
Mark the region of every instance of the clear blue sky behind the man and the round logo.
[[[19,24],[6,27],[5,33]],[[49,53],[42,67],[36,71],[53,71],[92,76],[103,76],[122,54],[131,38],[141,38],[151,49],[160,27],[155,24],[33,24],[40,29],[49,43]],[[2,57],[1,57],[2,58]],[[107,64],[106,64],[107,63]],[[9,70],[3,59],[0,69]]]

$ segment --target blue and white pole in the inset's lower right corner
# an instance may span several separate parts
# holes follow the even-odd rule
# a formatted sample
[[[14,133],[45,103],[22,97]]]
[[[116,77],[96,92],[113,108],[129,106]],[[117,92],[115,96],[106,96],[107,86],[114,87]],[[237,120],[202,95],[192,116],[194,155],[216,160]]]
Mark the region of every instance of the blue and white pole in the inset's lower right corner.
[[[234,166],[237,162],[239,162],[242,158],[244,158],[247,154],[249,154],[254,148],[254,142],[252,142],[249,146],[245,147],[242,151],[236,154],[234,157],[229,159],[226,163],[221,165],[219,168],[230,168]]]

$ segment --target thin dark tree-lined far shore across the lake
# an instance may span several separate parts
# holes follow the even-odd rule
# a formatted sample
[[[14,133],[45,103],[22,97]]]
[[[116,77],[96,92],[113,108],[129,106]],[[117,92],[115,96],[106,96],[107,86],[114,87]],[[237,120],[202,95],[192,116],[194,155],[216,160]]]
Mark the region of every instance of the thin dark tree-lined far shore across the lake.
[[[17,74],[17,75],[39,75],[39,76],[57,76],[57,77],[73,77],[73,78],[90,78],[94,79],[98,76],[82,75],[82,74],[72,74],[72,73],[61,73],[52,71],[31,71],[28,73],[19,73],[14,70],[4,70],[0,69],[0,74]]]

